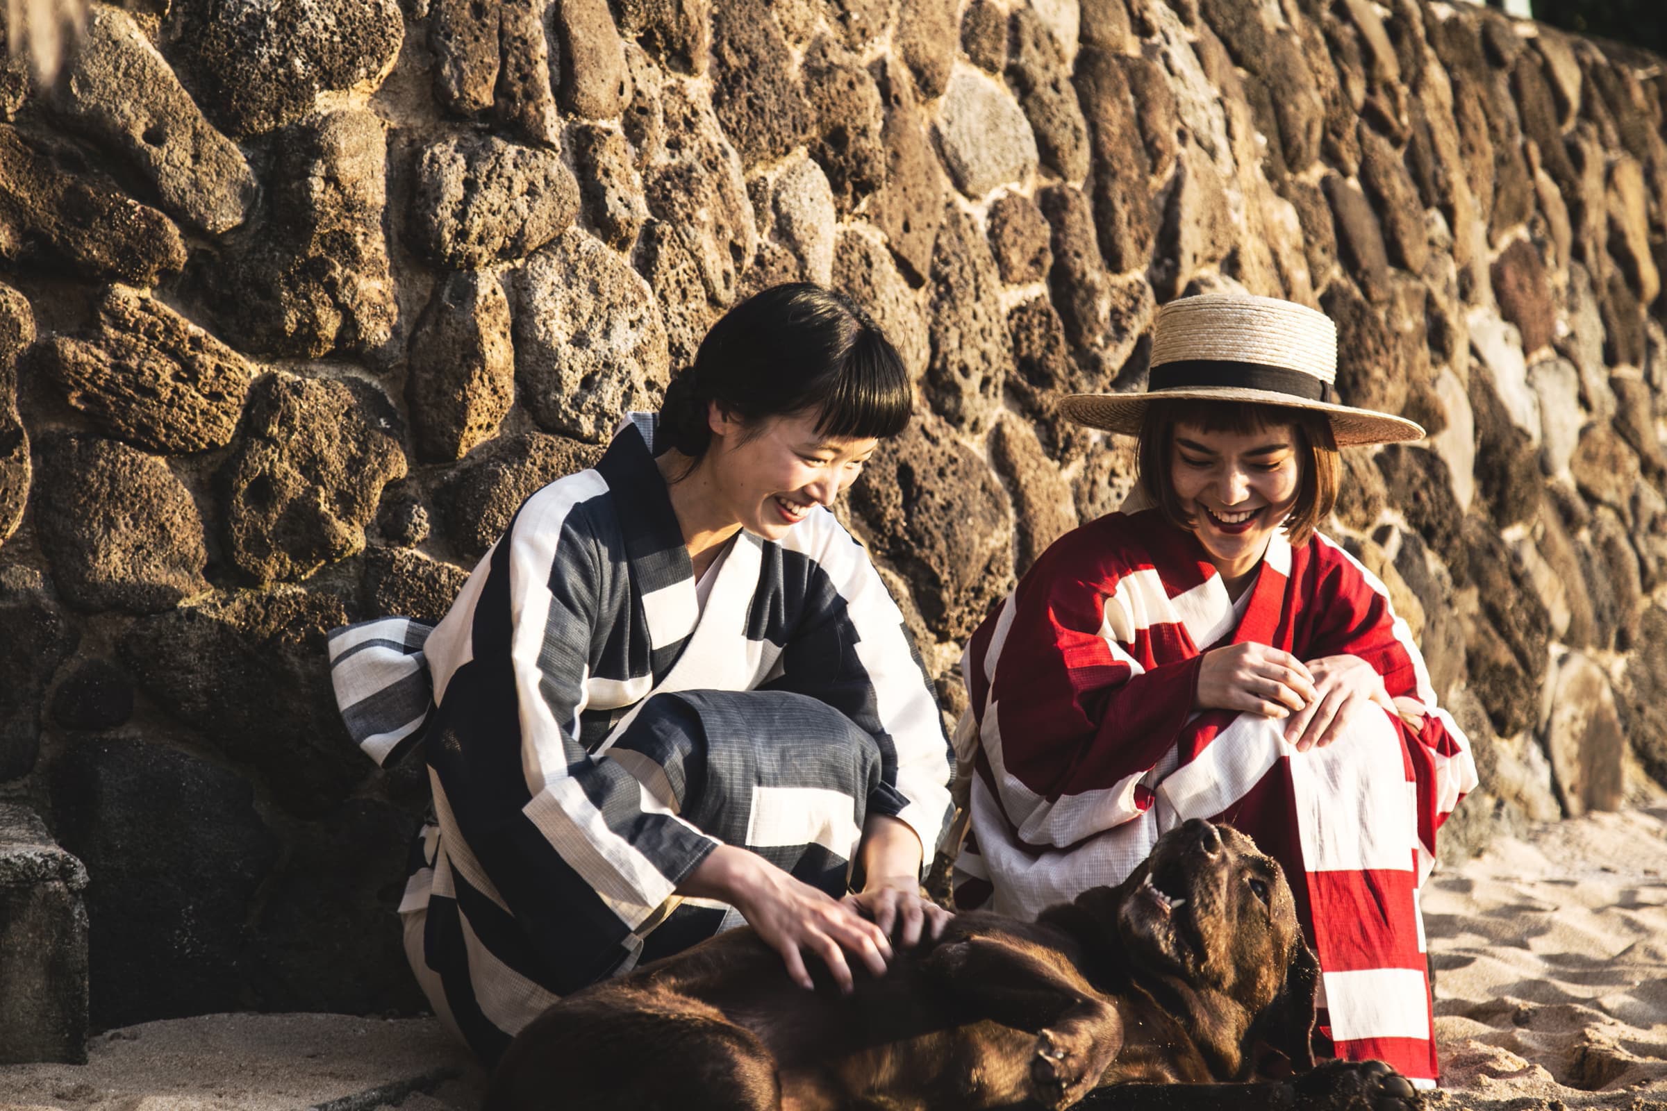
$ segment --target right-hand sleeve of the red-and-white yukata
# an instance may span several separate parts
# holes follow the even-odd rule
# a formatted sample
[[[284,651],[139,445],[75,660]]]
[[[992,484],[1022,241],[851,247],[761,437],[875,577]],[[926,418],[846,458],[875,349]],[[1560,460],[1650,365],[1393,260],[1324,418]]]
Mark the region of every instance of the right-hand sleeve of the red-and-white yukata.
[[[1470,743],[1435,705],[1424,655],[1382,580],[1322,535],[1314,538],[1314,560],[1312,593],[1304,600],[1309,635],[1297,651],[1304,660],[1360,656],[1384,678],[1417,781],[1419,839],[1434,856],[1435,830],[1477,785]]]

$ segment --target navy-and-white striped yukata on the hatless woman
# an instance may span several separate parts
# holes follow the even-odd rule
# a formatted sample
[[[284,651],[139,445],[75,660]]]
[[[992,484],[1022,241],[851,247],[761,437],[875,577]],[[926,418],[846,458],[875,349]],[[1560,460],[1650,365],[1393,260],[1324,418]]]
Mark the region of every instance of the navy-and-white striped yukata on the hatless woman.
[[[407,948],[488,1063],[558,996],[740,924],[673,894],[718,843],[839,896],[867,815],[930,859],[950,813],[942,720],[864,550],[820,508],[743,531],[702,608],[652,441],[635,415],[532,495],[432,631],[330,636],[353,736],[425,755]]]

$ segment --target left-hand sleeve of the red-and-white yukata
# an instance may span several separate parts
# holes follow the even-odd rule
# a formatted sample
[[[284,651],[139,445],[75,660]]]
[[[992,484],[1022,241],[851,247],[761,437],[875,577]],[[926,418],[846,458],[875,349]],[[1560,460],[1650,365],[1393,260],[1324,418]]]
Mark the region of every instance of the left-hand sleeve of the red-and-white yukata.
[[[1035,849],[1145,813],[1142,780],[1192,715],[1202,658],[1157,570],[1119,558],[1115,536],[1102,521],[1049,548],[962,661],[987,783]]]

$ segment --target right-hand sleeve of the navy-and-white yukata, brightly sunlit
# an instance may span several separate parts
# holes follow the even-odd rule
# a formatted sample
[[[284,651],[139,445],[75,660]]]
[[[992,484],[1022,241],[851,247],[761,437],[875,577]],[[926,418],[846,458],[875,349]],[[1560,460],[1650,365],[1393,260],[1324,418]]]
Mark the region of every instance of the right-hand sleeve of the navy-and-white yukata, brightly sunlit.
[[[954,756],[937,696],[904,615],[867,551],[832,513],[798,526],[805,543],[802,616],[765,686],[808,695],[864,730],[880,748],[880,783],[867,813],[907,823],[932,864],[952,813]],[[812,531],[813,530],[813,531]],[[800,578],[800,576],[793,576]]]

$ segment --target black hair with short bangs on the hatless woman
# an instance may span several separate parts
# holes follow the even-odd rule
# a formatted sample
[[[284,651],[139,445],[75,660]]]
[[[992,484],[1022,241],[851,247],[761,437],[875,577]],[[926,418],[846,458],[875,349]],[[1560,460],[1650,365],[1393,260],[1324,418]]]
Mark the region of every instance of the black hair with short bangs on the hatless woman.
[[[813,411],[823,436],[889,440],[909,426],[914,388],[897,348],[849,296],[793,281],[712,325],[695,365],[665,388],[657,446],[705,455],[712,401],[748,426]]]

